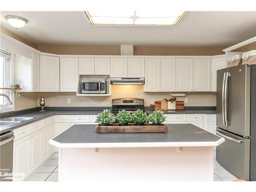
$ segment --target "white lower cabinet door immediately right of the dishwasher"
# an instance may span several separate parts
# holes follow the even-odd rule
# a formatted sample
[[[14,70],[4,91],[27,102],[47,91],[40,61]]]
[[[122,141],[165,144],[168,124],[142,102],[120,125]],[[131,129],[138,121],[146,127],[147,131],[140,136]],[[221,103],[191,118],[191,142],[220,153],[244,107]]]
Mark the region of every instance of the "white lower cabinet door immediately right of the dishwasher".
[[[30,142],[29,136],[13,143],[13,172],[15,179],[25,179],[30,174]]]

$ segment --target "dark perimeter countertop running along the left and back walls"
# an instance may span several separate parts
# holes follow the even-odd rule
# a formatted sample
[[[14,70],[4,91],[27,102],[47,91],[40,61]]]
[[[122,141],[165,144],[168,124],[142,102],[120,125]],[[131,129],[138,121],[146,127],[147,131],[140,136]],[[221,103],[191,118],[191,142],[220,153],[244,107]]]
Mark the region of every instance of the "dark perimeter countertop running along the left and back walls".
[[[203,108],[203,109],[202,109]],[[0,134],[12,131],[17,129],[18,127],[22,127],[24,125],[48,118],[53,115],[97,115],[102,112],[103,109],[110,109],[111,107],[49,107],[45,108],[45,112],[40,112],[39,108],[27,109],[16,112],[7,112],[1,114],[1,120],[7,117],[35,117],[34,119],[28,121],[22,121],[16,125],[9,127],[0,127]],[[191,109],[191,110],[190,110]],[[216,110],[212,110],[211,107],[193,107],[186,108],[185,110],[176,110],[176,111],[163,111],[164,114],[216,114]],[[154,108],[145,106],[145,111],[150,114],[154,111]]]

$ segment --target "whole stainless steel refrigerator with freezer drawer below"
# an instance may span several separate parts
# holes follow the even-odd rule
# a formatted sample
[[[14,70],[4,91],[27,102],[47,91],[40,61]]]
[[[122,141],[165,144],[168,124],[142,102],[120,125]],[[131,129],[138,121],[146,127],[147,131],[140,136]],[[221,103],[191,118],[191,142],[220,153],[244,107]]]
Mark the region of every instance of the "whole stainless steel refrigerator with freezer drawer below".
[[[256,66],[217,71],[216,159],[234,176],[256,181]]]

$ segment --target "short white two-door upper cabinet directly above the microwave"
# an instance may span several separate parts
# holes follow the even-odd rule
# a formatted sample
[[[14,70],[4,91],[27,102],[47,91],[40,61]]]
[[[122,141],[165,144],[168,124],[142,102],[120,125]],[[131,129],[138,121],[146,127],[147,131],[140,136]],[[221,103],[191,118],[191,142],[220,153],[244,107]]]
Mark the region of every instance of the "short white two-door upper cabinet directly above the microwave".
[[[79,58],[79,75],[110,75],[110,58]]]

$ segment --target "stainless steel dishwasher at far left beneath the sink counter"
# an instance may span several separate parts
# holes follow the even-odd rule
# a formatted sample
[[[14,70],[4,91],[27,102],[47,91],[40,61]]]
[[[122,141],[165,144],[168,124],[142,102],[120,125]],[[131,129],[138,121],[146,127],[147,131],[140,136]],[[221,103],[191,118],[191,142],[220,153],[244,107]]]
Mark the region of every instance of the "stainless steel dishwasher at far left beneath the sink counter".
[[[12,181],[13,139],[12,131],[0,135],[0,181]]]

